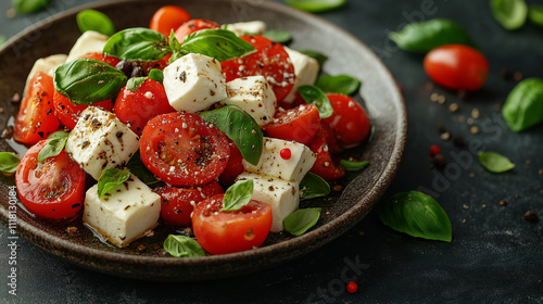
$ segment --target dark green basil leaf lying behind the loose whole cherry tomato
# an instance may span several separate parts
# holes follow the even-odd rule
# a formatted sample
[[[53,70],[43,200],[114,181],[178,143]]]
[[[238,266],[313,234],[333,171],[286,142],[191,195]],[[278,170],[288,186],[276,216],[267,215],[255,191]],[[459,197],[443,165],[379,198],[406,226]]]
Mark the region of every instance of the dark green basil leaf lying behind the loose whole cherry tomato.
[[[407,24],[400,31],[391,31],[389,38],[404,51],[426,53],[444,45],[476,47],[466,30],[446,18]]]

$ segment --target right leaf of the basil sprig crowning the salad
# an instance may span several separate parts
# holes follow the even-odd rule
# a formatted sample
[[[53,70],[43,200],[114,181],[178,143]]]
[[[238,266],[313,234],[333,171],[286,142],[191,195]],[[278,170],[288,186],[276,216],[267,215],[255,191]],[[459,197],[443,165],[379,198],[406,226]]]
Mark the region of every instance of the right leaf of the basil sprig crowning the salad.
[[[245,56],[256,49],[228,29],[202,29],[186,36],[182,40],[182,53],[199,53],[227,61]]]

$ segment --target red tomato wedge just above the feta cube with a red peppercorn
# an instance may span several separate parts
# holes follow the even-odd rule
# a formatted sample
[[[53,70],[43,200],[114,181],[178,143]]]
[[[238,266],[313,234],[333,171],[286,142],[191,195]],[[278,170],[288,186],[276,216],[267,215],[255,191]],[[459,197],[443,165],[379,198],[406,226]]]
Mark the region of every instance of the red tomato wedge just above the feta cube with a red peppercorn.
[[[277,112],[272,123],[264,127],[269,137],[294,140],[305,145],[312,142],[320,126],[320,115],[315,104],[301,104]]]

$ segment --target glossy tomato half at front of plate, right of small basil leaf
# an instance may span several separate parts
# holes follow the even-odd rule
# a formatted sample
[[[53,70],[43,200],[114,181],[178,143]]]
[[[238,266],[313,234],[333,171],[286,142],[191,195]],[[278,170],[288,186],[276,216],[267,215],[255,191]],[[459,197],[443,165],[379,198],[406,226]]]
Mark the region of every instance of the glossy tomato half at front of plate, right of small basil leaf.
[[[192,215],[198,242],[211,254],[228,254],[258,248],[272,228],[272,207],[251,200],[239,211],[220,212],[224,194],[200,202]]]

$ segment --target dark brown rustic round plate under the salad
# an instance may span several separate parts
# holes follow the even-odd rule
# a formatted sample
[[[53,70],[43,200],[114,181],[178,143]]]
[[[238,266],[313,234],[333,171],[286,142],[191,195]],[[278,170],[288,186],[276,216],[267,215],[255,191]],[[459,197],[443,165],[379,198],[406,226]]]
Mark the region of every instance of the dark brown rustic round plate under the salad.
[[[363,156],[370,166],[362,173],[349,173],[326,199],[303,201],[302,206],[321,206],[316,227],[301,237],[278,233],[263,248],[227,255],[174,258],[161,250],[171,231],[159,228],[153,237],[143,238],[127,249],[116,249],[94,238],[80,220],[52,225],[31,217],[17,206],[18,235],[43,250],[77,265],[102,273],[144,280],[205,280],[240,275],[270,267],[314,251],[345,232],[359,221],[378,201],[397,170],[407,135],[407,113],[397,86],[387,67],[368,47],[341,28],[315,15],[264,1],[121,1],[92,5],[106,13],[117,29],[147,26],[153,12],[165,4],[178,4],[193,17],[205,17],[220,24],[262,20],[268,28],[286,29],[293,35],[291,48],[318,50],[329,56],[324,66],[328,74],[350,74],[363,87],[357,97],[364,103],[374,131],[364,147],[346,155]],[[86,9],[86,8],[80,8]],[[80,35],[72,10],[45,21],[10,40],[0,50],[0,125],[7,126],[17,104],[11,102],[23,90],[34,62],[54,53],[66,53]],[[331,47],[329,47],[331,46]],[[5,140],[0,151],[11,151]],[[0,214],[8,225],[8,183],[0,188]],[[77,232],[68,233],[68,226]]]

